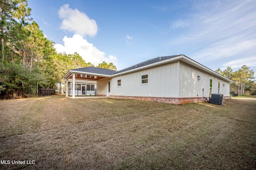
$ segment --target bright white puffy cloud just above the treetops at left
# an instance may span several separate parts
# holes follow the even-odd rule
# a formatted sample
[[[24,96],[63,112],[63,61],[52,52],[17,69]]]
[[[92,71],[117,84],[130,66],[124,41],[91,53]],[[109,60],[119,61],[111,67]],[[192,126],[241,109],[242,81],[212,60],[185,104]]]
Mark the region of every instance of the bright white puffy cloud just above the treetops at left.
[[[97,66],[99,63],[105,61],[106,63],[113,63],[117,65],[117,57],[109,55],[105,57],[105,53],[94,47],[92,43],[88,43],[81,35],[74,35],[71,38],[65,36],[63,38],[64,45],[55,44],[54,48],[58,53],[74,54],[77,52],[86,63],[90,62]]]

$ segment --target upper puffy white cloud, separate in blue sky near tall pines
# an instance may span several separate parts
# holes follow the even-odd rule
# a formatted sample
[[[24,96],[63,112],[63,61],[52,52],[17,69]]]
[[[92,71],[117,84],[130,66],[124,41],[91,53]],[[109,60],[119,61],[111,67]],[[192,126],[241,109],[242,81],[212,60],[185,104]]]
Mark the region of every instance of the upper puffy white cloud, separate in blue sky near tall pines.
[[[81,36],[94,36],[98,31],[95,20],[77,9],[69,8],[68,4],[60,7],[59,17],[62,19],[60,29],[80,34]]]

